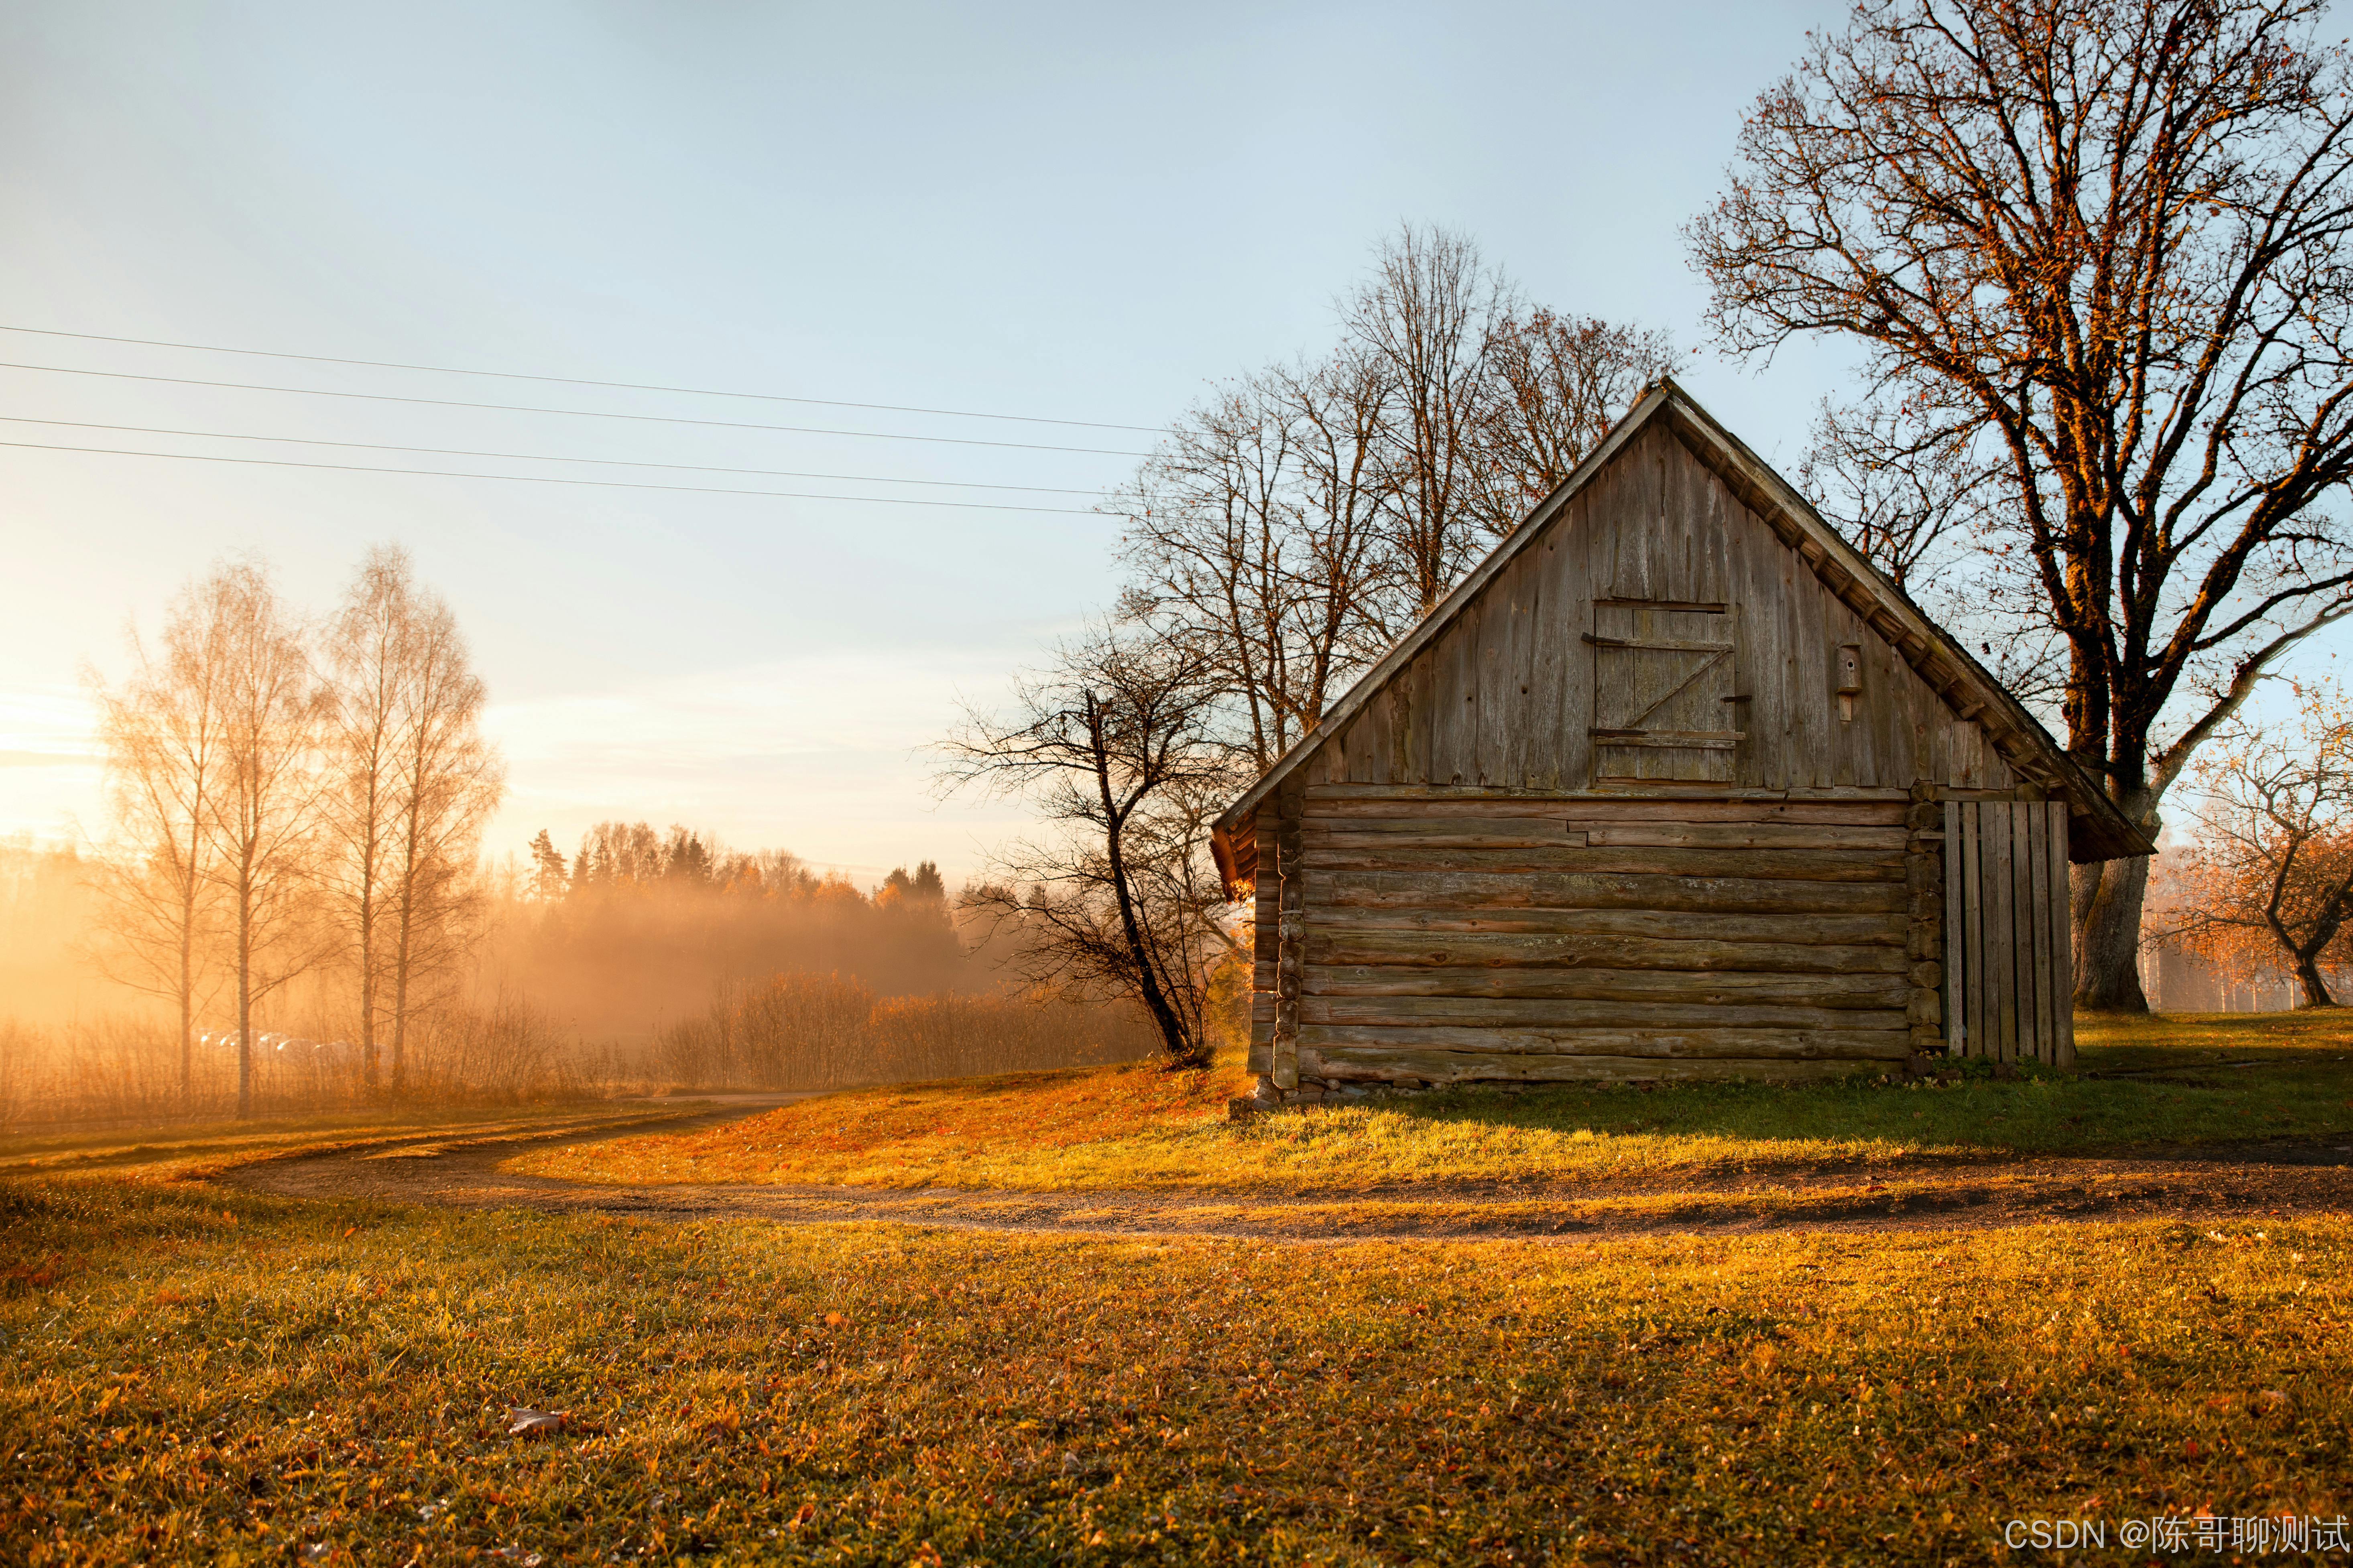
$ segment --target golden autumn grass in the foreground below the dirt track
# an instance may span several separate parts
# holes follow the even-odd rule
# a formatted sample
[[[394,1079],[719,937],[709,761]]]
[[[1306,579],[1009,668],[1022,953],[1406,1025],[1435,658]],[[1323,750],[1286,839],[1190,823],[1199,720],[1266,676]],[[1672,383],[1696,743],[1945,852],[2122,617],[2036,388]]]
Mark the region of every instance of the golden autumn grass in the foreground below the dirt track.
[[[1266,1248],[19,1178],[0,1258],[24,1563],[1988,1561],[2353,1476],[2341,1220]]]

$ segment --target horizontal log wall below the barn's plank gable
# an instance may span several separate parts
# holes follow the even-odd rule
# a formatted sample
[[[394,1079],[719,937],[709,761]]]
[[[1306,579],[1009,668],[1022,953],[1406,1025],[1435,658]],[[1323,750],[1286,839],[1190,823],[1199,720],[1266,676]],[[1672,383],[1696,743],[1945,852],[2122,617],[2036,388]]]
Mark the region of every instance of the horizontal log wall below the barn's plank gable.
[[[1299,1072],[1885,1072],[1911,1051],[1911,802],[1311,785]]]

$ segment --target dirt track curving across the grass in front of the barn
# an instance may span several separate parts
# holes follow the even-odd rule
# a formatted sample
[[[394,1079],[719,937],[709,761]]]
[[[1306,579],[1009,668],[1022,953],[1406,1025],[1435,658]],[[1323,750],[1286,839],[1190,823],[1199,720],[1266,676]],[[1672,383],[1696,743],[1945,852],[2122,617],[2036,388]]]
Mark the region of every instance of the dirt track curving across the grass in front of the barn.
[[[784,1098],[748,1098],[664,1124],[746,1117]],[[878,1187],[645,1185],[607,1187],[520,1175],[501,1166],[529,1147],[652,1131],[565,1128],[496,1140],[400,1140],[228,1173],[252,1192],[459,1208],[633,1215],[642,1220],[842,1220],[1064,1237],[1605,1239],[1762,1229],[1944,1232],[2066,1220],[2353,1215],[2353,1140],[2266,1143],[2125,1159],[1920,1159],[1857,1168],[1788,1168],[1685,1178],[1671,1185],[1494,1187],[1400,1185],[1367,1194],[972,1192]]]

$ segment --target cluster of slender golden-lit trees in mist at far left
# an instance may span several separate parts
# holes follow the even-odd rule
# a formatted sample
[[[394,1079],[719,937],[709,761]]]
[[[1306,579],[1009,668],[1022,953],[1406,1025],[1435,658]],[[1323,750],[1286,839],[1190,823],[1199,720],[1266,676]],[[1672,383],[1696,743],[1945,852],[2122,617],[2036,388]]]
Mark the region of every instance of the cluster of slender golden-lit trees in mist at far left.
[[[478,851],[504,792],[485,689],[449,607],[407,552],[367,555],[325,618],[256,562],[191,583],[99,691],[113,853],[104,971],[179,1013],[233,1006],[238,1114],[254,1009],[327,973],[353,1006],[360,1074],[405,1088],[421,1013],[480,933]]]

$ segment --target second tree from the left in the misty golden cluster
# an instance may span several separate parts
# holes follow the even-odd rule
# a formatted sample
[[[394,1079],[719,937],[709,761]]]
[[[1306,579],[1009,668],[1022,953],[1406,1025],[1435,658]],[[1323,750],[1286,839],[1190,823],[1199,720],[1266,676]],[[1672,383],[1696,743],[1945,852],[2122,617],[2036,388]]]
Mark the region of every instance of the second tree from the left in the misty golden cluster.
[[[221,771],[205,809],[207,877],[221,898],[238,994],[238,1114],[254,1110],[254,1004],[322,954],[318,766],[325,691],[306,628],[259,564],[216,567],[198,588],[216,628]]]

